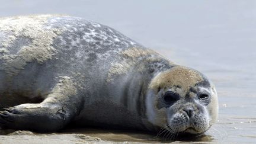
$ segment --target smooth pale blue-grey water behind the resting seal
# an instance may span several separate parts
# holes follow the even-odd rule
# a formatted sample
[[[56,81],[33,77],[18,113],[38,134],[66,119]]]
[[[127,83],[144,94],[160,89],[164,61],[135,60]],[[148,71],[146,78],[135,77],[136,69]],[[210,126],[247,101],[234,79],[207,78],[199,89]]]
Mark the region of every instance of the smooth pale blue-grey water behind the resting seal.
[[[1,17],[68,14],[88,18],[121,31],[175,63],[203,72],[216,85],[219,121],[207,136],[194,141],[256,142],[256,1],[16,0],[2,1],[0,9]],[[85,131],[81,133],[89,133]],[[92,136],[114,141],[155,140],[135,132],[102,133],[96,130]],[[134,135],[139,136],[135,139]]]

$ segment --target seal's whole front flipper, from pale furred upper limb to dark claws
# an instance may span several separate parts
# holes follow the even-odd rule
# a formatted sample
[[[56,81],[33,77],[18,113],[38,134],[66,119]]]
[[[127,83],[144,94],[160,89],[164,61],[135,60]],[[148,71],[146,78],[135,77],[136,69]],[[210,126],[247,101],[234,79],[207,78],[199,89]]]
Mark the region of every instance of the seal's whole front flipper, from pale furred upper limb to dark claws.
[[[0,112],[0,127],[37,132],[62,129],[82,107],[82,97],[71,79],[62,77],[40,104],[21,104]]]

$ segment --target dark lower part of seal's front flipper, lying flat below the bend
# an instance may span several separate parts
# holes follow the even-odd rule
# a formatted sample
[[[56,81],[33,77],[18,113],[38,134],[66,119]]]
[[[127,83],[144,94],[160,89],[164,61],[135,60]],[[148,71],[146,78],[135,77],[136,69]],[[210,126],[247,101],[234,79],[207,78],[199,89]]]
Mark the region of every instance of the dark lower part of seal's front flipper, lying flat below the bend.
[[[9,129],[53,132],[62,129],[75,116],[71,107],[60,104],[21,104],[0,112],[0,126]]]

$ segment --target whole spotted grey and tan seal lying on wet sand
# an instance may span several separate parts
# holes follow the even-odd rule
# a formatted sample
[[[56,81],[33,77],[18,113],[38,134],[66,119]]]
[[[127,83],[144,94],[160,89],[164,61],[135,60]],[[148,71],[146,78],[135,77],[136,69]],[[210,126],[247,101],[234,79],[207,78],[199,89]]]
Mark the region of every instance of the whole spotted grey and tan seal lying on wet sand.
[[[0,20],[0,126],[53,132],[67,124],[204,133],[215,86],[102,24],[65,15]]]

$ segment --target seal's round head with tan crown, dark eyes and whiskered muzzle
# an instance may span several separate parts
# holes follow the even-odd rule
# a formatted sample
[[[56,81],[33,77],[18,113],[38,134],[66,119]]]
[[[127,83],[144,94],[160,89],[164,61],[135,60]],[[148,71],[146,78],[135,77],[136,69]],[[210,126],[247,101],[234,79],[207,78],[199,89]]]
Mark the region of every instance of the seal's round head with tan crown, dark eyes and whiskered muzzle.
[[[217,94],[203,74],[184,66],[160,72],[146,95],[148,120],[171,133],[199,134],[217,120]]]

